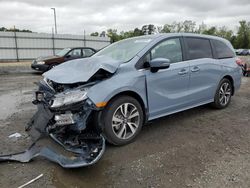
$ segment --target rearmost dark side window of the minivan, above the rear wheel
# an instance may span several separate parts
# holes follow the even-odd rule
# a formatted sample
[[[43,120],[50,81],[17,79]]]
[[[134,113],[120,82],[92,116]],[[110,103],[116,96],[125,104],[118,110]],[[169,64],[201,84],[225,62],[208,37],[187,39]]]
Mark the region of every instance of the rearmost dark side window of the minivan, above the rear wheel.
[[[222,41],[213,40],[218,59],[234,57],[234,52]]]

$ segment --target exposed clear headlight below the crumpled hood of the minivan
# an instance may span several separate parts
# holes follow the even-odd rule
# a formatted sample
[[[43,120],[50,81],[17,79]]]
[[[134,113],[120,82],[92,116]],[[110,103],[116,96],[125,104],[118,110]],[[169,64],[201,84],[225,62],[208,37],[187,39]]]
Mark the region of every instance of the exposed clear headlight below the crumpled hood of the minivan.
[[[86,89],[78,89],[59,93],[51,100],[51,108],[58,108],[69,104],[78,103],[85,99],[87,99]]]

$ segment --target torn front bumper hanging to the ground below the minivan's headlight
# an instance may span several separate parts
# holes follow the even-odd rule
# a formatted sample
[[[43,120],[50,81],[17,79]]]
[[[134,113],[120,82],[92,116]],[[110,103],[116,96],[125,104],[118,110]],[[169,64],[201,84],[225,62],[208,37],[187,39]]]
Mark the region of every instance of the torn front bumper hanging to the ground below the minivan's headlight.
[[[41,156],[64,168],[78,168],[92,165],[102,157],[105,139],[97,131],[86,127],[90,108],[84,106],[85,112],[71,116],[53,112],[43,102],[37,102],[37,107],[36,114],[26,127],[34,143],[26,151],[0,156],[0,161],[29,162]],[[65,156],[49,146],[38,146],[36,142],[44,136],[50,136],[71,155]]]

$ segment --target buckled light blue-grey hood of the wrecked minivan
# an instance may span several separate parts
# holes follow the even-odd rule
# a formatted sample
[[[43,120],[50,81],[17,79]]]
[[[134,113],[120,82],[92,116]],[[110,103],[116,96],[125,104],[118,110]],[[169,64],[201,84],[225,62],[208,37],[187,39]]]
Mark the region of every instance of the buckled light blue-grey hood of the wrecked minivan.
[[[87,82],[95,73],[103,69],[114,73],[121,62],[106,56],[94,56],[60,64],[43,74],[44,77],[60,84]]]

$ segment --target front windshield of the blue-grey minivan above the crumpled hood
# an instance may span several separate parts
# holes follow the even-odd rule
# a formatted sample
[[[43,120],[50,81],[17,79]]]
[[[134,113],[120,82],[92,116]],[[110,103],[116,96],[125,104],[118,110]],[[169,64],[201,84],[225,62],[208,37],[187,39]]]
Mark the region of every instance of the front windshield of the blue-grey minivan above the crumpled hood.
[[[127,62],[151,42],[151,40],[149,37],[122,40],[107,46],[93,56],[108,56],[118,61]]]

